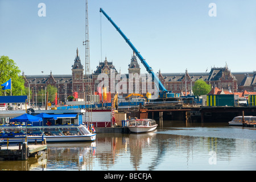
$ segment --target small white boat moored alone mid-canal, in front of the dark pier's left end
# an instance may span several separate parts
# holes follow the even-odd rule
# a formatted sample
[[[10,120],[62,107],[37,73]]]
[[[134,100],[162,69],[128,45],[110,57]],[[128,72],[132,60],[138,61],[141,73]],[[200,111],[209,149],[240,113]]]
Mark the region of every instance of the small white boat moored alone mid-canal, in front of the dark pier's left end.
[[[128,128],[131,133],[145,133],[154,131],[157,126],[154,119],[130,119]]]

